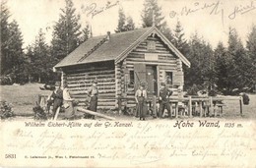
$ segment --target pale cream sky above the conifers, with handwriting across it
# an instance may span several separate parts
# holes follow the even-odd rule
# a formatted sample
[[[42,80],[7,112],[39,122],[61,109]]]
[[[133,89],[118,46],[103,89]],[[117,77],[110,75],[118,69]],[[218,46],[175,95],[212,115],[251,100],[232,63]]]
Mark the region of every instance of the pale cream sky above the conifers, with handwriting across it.
[[[118,9],[132,17],[136,28],[141,28],[144,0],[73,0],[76,13],[81,16],[82,27],[92,25],[94,36],[114,33],[118,22]],[[107,8],[107,2],[108,8]],[[24,47],[32,44],[39,28],[49,43],[55,22],[59,19],[64,0],[7,0],[11,20],[22,30]],[[181,23],[187,39],[197,32],[216,47],[219,41],[227,42],[228,28],[236,28],[245,44],[252,25],[256,25],[256,0],[159,0],[162,16],[169,28]],[[101,10],[103,9],[103,10]],[[101,11],[96,14],[96,11]],[[96,15],[93,15],[95,13]]]

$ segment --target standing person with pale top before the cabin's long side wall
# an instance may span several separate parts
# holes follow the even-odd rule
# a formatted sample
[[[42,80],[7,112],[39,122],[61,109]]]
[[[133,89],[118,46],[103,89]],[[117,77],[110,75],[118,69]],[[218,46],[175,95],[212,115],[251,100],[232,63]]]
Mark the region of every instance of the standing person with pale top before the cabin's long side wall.
[[[98,95],[98,89],[96,86],[97,82],[93,81],[92,87],[87,91],[87,93],[90,96],[90,105],[89,105],[89,110],[95,111],[96,112],[96,106],[97,106],[97,95]],[[93,119],[95,119],[95,116],[89,115]],[[85,118],[87,118],[88,115],[85,115]]]

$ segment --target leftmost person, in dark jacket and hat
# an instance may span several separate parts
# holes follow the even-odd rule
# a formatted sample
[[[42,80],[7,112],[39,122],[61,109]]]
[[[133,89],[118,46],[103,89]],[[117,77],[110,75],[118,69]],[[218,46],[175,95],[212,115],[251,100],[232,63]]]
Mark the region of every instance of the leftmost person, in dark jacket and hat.
[[[55,89],[50,95],[50,99],[53,101],[53,119],[55,117],[56,111],[62,105],[63,101],[63,90],[60,88],[60,82],[55,83]]]

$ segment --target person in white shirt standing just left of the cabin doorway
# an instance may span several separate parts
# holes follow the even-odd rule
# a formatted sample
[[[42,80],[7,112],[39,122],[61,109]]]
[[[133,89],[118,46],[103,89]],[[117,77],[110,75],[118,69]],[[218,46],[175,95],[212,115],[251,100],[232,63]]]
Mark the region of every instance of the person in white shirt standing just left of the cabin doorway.
[[[139,89],[135,93],[135,100],[137,102],[137,115],[140,116],[140,120],[145,120],[146,113],[148,110],[146,100],[147,91],[145,89],[145,84],[140,84]]]

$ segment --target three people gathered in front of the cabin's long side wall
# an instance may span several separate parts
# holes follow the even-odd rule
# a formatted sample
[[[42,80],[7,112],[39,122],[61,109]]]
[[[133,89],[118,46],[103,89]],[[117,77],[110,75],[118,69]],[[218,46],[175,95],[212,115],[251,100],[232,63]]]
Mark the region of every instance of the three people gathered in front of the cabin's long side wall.
[[[90,97],[89,100],[89,110],[96,112],[96,106],[97,106],[97,95],[98,95],[98,89],[96,87],[96,81],[93,81],[92,86],[88,91],[85,91],[88,96]],[[63,87],[61,87],[60,82],[55,83],[55,89],[52,91],[52,93],[49,95],[47,100],[47,110],[49,111],[50,106],[52,105],[52,114],[53,119],[56,116],[57,110],[60,110],[60,108],[63,106],[65,108],[65,119],[72,119],[75,117],[75,109],[74,109],[74,99],[71,97],[69,89],[67,87],[67,84],[63,84]],[[93,118],[95,119],[95,116],[93,115],[85,115],[85,118]]]

